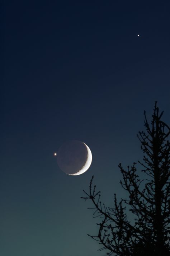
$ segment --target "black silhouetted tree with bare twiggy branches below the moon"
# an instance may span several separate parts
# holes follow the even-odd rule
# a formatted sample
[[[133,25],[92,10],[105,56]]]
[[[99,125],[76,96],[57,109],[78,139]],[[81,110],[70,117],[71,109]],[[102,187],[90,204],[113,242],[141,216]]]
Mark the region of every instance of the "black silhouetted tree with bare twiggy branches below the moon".
[[[146,133],[137,135],[144,153],[143,163],[138,163],[148,179],[139,179],[135,162],[127,170],[119,164],[123,175],[120,183],[127,190],[128,199],[118,203],[114,194],[114,208],[101,204],[100,191],[96,192],[92,185],[93,177],[89,193],[83,190],[86,196],[81,198],[90,199],[95,217],[102,218],[97,224],[98,235],[90,237],[103,245],[100,250],[109,250],[107,255],[170,256],[170,128],[161,121],[162,114],[155,102],[151,125],[144,111]],[[128,221],[126,206],[134,214],[133,225]]]

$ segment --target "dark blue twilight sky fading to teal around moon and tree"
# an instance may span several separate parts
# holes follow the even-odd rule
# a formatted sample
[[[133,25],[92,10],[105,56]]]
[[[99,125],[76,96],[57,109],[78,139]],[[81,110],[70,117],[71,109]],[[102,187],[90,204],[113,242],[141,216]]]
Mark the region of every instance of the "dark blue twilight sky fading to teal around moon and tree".
[[[94,175],[108,206],[114,193],[127,197],[118,164],[142,159],[143,111],[150,120],[157,100],[170,125],[170,2],[2,7],[0,255],[104,256],[87,236],[100,220],[82,189]],[[62,172],[53,156],[70,139],[93,155],[79,176]]]

